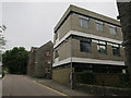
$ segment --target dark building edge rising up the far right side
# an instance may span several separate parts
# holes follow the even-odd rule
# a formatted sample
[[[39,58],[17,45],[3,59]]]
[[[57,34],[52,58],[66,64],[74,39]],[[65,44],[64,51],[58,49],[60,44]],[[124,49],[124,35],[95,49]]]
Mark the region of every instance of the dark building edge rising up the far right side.
[[[119,1],[119,0],[118,0]],[[126,65],[131,74],[131,1],[130,2],[118,2],[118,11],[123,33],[123,46],[126,47]]]

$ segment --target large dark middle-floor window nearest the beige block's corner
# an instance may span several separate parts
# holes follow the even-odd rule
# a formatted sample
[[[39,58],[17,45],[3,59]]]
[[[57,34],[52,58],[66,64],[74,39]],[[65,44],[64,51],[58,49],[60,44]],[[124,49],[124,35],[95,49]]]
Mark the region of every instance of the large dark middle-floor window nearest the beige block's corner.
[[[82,52],[91,52],[92,51],[91,41],[80,40],[80,48]]]

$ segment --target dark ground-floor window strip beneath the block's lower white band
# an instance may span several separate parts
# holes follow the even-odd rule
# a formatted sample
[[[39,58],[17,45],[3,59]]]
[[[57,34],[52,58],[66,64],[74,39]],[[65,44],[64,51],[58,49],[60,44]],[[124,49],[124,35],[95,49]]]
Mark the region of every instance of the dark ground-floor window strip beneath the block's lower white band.
[[[72,63],[74,72],[93,72],[93,73],[122,73],[122,65],[92,64],[92,63]],[[53,69],[71,69],[71,64],[58,65]]]

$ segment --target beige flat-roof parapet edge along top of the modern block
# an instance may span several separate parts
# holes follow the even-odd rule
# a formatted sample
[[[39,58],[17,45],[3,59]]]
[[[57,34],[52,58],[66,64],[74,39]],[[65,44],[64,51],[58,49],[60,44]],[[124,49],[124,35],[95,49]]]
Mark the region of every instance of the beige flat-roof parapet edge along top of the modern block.
[[[115,20],[115,19],[111,19],[111,17],[108,17],[108,16],[105,16],[105,15],[85,10],[83,8],[79,8],[79,7],[70,4],[68,10],[64,12],[62,17],[58,22],[58,24],[55,26],[55,28],[53,28],[55,33],[57,32],[57,29],[59,29],[59,27],[62,25],[62,23],[64,23],[64,20],[70,15],[71,12],[79,13],[79,14],[82,14],[82,15],[86,15],[86,16],[90,16],[90,17],[93,17],[93,19],[96,19],[96,20],[99,20],[99,21],[103,21],[103,22],[107,22],[107,23],[112,24],[112,25],[120,26],[120,22]]]

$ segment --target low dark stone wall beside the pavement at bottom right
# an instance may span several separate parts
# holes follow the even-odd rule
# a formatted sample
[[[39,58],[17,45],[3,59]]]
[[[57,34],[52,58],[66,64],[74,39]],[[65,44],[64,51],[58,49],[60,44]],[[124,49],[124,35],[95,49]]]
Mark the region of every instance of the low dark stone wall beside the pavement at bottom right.
[[[98,96],[131,96],[130,88],[115,88],[106,86],[75,84],[75,89]]]

